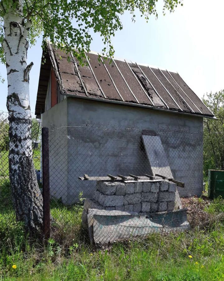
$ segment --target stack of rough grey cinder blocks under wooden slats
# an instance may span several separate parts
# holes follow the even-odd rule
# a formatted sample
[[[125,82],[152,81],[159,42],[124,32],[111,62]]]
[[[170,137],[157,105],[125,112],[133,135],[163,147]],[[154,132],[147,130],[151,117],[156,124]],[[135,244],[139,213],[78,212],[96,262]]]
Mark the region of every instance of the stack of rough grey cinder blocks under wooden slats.
[[[97,208],[105,210],[156,213],[181,208],[177,185],[167,180],[98,181],[93,198],[99,204]]]

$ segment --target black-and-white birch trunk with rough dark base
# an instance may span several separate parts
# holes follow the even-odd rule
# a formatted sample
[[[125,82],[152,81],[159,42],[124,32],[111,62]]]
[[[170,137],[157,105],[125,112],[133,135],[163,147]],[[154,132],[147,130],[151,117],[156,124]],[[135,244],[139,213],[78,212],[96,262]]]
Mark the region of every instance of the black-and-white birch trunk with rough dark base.
[[[31,22],[22,17],[22,0],[4,16],[3,48],[7,66],[9,113],[9,177],[16,219],[37,233],[43,226],[43,198],[32,162],[27,33]]]

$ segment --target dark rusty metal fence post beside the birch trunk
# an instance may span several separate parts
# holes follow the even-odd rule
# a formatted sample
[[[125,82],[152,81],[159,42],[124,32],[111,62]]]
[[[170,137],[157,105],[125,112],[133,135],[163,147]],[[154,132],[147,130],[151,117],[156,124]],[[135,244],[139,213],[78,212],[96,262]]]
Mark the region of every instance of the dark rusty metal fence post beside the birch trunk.
[[[42,128],[44,238],[50,238],[49,130]]]

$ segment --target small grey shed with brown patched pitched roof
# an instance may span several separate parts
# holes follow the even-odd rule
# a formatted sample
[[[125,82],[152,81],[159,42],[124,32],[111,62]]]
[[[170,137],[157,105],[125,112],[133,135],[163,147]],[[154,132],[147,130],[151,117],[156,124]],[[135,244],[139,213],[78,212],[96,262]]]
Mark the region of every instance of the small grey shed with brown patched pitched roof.
[[[176,72],[48,43],[40,67],[35,115],[50,129],[51,195],[66,204],[91,197],[79,176],[152,174],[142,131],[160,137],[181,196],[203,190],[203,118],[215,118]],[[70,62],[68,60],[70,58]],[[149,144],[150,146],[150,144]],[[155,146],[155,144],[154,144]]]

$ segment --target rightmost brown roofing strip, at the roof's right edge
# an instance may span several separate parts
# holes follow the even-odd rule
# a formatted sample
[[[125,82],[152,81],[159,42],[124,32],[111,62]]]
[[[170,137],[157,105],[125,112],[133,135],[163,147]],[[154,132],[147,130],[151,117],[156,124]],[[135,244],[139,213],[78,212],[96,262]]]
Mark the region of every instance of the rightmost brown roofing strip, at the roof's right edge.
[[[170,72],[170,74],[201,112],[209,115],[212,114],[211,111],[203,104],[199,97],[190,89],[190,87],[184,82],[184,80],[178,73]]]

